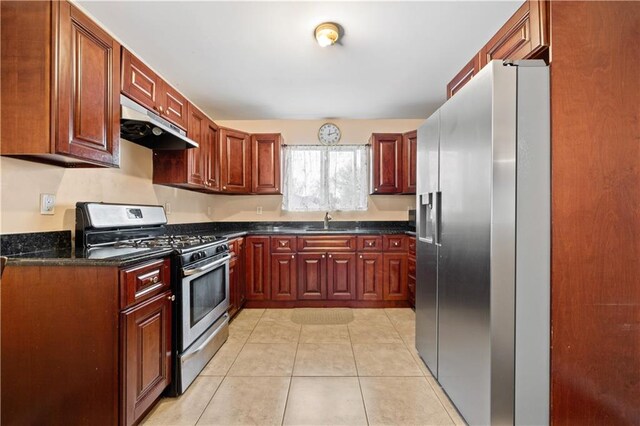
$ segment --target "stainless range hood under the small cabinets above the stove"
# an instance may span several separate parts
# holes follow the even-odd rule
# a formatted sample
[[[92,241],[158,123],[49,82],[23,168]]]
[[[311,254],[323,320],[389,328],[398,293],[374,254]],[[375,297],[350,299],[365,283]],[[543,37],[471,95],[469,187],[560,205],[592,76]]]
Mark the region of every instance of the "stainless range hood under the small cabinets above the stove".
[[[124,95],[120,95],[120,107],[122,139],[151,149],[198,148],[198,144],[187,137],[187,132]]]

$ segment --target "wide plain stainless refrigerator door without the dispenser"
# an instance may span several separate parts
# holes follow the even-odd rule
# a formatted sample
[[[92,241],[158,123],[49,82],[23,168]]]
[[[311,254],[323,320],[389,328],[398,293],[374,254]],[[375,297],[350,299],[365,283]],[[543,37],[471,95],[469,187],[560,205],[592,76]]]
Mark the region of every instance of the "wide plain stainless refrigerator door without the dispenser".
[[[479,73],[440,113],[438,381],[469,424],[486,425],[491,423],[492,74]]]

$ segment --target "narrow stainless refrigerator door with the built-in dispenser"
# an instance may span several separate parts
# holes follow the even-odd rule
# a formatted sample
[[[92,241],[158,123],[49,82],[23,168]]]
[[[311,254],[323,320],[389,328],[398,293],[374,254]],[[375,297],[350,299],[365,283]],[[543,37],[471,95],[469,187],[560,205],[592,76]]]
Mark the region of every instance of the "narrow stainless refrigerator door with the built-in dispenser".
[[[418,129],[416,196],[416,349],[438,377],[438,246],[440,112]]]

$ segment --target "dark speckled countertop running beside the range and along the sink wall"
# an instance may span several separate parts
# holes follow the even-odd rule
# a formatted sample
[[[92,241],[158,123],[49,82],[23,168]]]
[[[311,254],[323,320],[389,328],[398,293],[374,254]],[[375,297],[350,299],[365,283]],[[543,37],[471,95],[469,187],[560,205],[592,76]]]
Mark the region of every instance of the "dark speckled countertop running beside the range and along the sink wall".
[[[168,234],[217,235],[237,238],[245,235],[382,235],[415,232],[406,221],[331,222],[212,222],[167,225]],[[167,256],[171,249],[144,249],[105,259],[86,250],[73,250],[71,231],[35,232],[0,235],[0,254],[8,265],[18,266],[118,266],[124,267]]]

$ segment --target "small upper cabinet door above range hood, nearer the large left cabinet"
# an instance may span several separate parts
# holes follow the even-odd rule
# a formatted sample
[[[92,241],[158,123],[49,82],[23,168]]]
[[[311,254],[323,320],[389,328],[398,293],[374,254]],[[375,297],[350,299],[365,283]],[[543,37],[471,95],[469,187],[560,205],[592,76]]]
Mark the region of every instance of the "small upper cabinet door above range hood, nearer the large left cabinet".
[[[162,80],[127,49],[122,49],[122,93],[160,114]]]

